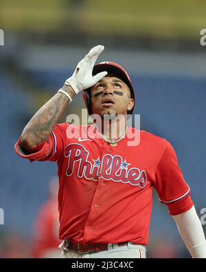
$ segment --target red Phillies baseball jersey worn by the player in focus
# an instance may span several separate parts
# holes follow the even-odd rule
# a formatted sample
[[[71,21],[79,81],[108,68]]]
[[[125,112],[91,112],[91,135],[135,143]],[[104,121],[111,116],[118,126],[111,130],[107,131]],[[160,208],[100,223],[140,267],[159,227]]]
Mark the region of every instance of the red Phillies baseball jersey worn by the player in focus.
[[[136,134],[139,144],[129,145]],[[96,135],[94,125],[62,123],[32,154],[23,154],[20,139],[15,149],[31,161],[57,161],[60,239],[146,245],[152,187],[172,215],[193,205],[175,151],[167,140],[133,127],[115,147]]]

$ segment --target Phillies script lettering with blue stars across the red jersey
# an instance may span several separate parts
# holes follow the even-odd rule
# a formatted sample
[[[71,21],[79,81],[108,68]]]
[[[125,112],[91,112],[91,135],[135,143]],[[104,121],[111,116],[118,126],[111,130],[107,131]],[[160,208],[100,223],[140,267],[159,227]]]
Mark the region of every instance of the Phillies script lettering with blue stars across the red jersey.
[[[105,180],[113,180],[115,182],[130,183],[130,185],[144,188],[146,186],[146,171],[140,171],[138,168],[128,169],[130,163],[122,160],[119,155],[111,156],[105,154],[100,158],[88,160],[89,151],[80,144],[73,143],[65,148],[65,157],[68,158],[67,176],[72,176],[74,167],[78,167],[78,178],[86,178],[87,180],[98,180],[98,177]]]

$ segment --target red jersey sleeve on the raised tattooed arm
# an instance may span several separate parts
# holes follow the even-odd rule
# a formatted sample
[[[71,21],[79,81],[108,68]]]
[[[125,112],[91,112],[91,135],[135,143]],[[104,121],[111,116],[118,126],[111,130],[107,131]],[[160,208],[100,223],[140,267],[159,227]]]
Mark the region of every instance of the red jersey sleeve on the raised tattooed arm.
[[[51,160],[56,161],[60,156],[62,156],[62,151],[66,142],[66,130],[67,123],[56,125],[49,139],[44,143],[41,143],[34,149],[30,150],[31,154],[24,154],[23,149],[21,149],[21,138],[14,146],[16,153],[21,156],[21,158],[27,158],[32,163],[34,160]]]

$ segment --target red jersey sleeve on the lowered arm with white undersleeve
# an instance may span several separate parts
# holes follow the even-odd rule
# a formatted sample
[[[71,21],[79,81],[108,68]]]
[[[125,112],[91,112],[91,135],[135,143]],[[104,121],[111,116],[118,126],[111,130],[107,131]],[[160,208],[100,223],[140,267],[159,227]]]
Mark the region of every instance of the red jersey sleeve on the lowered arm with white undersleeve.
[[[183,178],[172,145],[166,140],[165,149],[157,165],[154,187],[159,194],[159,200],[168,205],[172,215],[186,211],[185,209],[191,205],[190,198],[186,198],[190,195],[190,187]]]

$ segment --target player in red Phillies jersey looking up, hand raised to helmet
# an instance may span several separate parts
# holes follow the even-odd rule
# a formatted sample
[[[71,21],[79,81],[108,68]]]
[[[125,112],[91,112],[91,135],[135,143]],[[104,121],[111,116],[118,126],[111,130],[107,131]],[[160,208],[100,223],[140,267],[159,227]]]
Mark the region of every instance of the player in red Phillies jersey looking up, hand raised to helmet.
[[[146,258],[155,187],[192,258],[206,258],[203,228],[175,151],[167,140],[127,126],[135,91],[122,66],[95,65],[103,50],[90,50],[15,145],[31,162],[58,164],[62,257]],[[82,90],[89,115],[96,116],[93,125],[57,125]],[[138,133],[140,141],[128,145]]]

